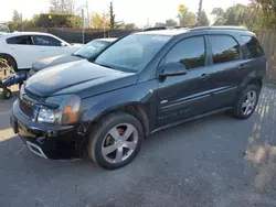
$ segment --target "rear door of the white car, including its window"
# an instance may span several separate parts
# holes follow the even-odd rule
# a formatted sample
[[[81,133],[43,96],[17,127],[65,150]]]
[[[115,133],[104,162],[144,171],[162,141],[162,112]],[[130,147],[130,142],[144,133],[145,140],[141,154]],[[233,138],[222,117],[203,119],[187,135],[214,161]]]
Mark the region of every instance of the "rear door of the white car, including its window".
[[[40,58],[40,47],[34,45],[32,35],[21,35],[7,39],[7,53],[17,61],[19,69],[30,69]]]

